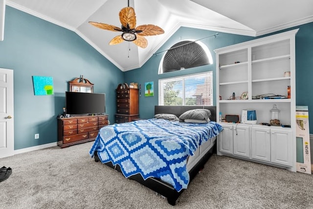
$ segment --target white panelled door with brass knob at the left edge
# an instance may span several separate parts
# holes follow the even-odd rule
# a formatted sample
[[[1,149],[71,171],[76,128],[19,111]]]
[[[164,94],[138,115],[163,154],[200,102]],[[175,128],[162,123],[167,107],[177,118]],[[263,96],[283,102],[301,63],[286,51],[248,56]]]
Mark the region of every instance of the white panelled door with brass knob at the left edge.
[[[13,70],[0,68],[0,158],[13,154]]]

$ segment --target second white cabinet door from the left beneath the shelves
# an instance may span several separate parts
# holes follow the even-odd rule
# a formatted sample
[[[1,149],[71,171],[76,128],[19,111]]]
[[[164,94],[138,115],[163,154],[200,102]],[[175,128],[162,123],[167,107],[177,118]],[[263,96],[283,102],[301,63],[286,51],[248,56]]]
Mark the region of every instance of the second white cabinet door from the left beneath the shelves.
[[[234,155],[250,157],[250,126],[233,125],[233,149]]]

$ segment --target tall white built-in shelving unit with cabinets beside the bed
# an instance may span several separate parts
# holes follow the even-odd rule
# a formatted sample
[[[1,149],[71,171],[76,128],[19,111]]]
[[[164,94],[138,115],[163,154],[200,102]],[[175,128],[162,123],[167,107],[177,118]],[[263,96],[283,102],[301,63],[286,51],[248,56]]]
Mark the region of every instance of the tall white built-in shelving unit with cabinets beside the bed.
[[[256,110],[257,124],[221,122],[224,131],[218,154],[240,157],[260,163],[282,166],[295,171],[295,35],[298,29],[216,49],[217,118],[219,113],[239,115],[242,110]],[[287,72],[287,73],[286,73]],[[290,74],[288,73],[290,72]],[[291,98],[256,99],[264,94]],[[247,92],[248,97],[241,99]],[[236,99],[232,99],[235,93]],[[222,99],[219,99],[220,96]],[[280,110],[280,126],[269,123],[270,110]],[[227,129],[227,130],[226,130]],[[239,130],[244,131],[239,131]],[[242,137],[238,137],[242,133]]]

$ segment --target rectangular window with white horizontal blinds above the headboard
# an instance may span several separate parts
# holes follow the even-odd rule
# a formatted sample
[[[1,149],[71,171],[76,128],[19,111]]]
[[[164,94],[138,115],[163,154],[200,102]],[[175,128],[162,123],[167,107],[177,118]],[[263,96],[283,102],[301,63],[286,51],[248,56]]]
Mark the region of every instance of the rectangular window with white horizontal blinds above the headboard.
[[[213,105],[213,72],[160,79],[159,105]]]

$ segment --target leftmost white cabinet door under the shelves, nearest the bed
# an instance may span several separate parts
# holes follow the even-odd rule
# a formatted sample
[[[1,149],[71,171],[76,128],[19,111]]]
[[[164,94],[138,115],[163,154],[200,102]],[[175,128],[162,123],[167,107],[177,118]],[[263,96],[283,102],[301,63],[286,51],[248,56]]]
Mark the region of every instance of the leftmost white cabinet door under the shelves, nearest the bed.
[[[219,135],[220,152],[233,154],[233,126],[223,124],[223,131]]]

